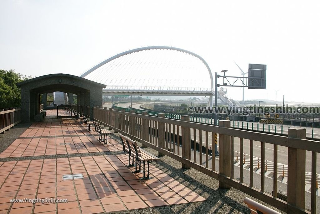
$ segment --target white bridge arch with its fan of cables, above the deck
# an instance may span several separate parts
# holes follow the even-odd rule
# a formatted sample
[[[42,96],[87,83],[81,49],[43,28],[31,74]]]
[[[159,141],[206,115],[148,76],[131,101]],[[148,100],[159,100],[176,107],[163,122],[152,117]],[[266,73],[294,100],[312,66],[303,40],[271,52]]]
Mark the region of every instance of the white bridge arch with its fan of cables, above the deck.
[[[157,62],[155,63],[158,57],[158,55],[156,56],[155,50],[157,50],[158,55],[160,55],[160,51],[163,50],[162,52],[164,54],[161,56],[163,58],[159,59],[159,61],[161,61],[160,63],[157,63]],[[164,50],[166,52],[164,52]],[[143,52],[148,52],[148,53],[142,54]],[[181,54],[178,55],[177,53],[174,54],[173,52],[177,52]],[[168,60],[168,56],[167,58],[164,57],[164,55],[166,54],[171,54],[172,56],[178,56],[178,57],[177,59],[172,59],[170,61]],[[182,56],[182,54],[184,56]],[[174,60],[175,62],[173,62]],[[172,82],[170,81],[171,85],[168,85],[169,83],[168,81],[166,81],[167,79],[163,81],[160,81],[158,79],[158,81],[156,81],[157,79],[152,79],[152,78],[155,78],[155,76],[151,76],[150,73],[146,75],[147,77],[143,77],[143,74],[141,73],[145,72],[145,70],[150,69],[151,68],[150,64],[152,63],[154,64],[154,71],[157,73],[159,78],[161,77],[161,75],[159,75],[159,71],[162,69],[161,72],[164,72],[165,69],[169,68],[170,63],[172,64],[176,63],[174,64],[174,66],[177,70],[189,69],[191,71],[190,73],[179,74],[180,78],[182,78],[183,75],[188,75],[189,77],[189,79],[183,80],[184,82],[180,81],[180,83],[184,83],[185,87],[182,87],[183,86],[182,84],[179,85],[179,82],[175,83],[173,81]],[[179,68],[179,66],[181,68]],[[194,68],[194,73],[192,73],[193,68]],[[106,76],[105,73],[108,73],[108,72],[113,73],[112,74],[113,76],[111,76],[111,74],[109,76]],[[132,73],[136,72],[136,73],[132,74],[130,72]],[[115,77],[116,73],[121,73],[121,74]],[[144,74],[146,74],[146,72]],[[173,78],[172,70],[170,70],[167,73],[167,75]],[[194,79],[197,75],[202,75],[201,78],[205,83],[204,84],[200,83],[197,86],[188,87],[190,83],[192,83],[191,82],[192,79]],[[123,81],[123,79],[126,78],[126,76],[128,76],[128,81],[126,82],[127,83],[129,82],[129,84],[125,84],[125,81]],[[156,88],[156,86],[154,88],[151,87],[150,77],[151,77],[151,80],[153,80],[154,82],[156,81],[158,84],[162,86],[168,86],[167,88],[164,87],[164,90],[166,91],[169,90],[173,92],[175,90],[177,91],[180,90],[180,92],[177,92],[177,94],[181,93],[182,90],[187,90],[188,94],[185,94],[185,95],[190,95],[192,94],[191,93],[192,90],[197,90],[197,89],[199,90],[202,89],[202,91],[205,91],[205,92],[203,94],[194,93],[194,95],[206,96],[206,95],[213,94],[212,93],[213,77],[212,77],[211,69],[207,64],[207,62],[201,56],[191,51],[184,50],[177,47],[150,46],[150,47],[140,47],[140,48],[128,50],[100,62],[99,64],[93,66],[91,69],[89,69],[88,71],[80,75],[80,77],[84,77],[92,81],[97,81],[97,82],[106,84],[107,88],[104,91],[109,92],[110,94],[112,94],[112,92],[115,92],[114,94],[121,93],[121,92],[132,94],[133,91],[140,94],[151,94],[152,91],[153,92],[156,91],[155,89],[158,90],[157,92],[160,92],[159,88]],[[111,81],[112,78],[114,81]],[[122,78],[122,82],[120,82],[121,78]],[[199,78],[199,76],[197,76],[197,78]],[[131,83],[132,85],[130,85]],[[124,85],[126,85],[127,87],[124,87]],[[180,86],[180,88],[172,87],[177,85]],[[137,88],[135,86],[139,86],[139,87]]]

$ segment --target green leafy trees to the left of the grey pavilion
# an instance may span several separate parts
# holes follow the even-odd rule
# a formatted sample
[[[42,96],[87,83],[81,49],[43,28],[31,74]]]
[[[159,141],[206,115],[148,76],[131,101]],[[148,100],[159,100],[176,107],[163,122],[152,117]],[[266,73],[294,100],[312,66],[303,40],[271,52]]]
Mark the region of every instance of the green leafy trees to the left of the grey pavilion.
[[[32,76],[24,76],[15,70],[0,69],[0,108],[21,106],[20,88],[16,83],[31,79]]]

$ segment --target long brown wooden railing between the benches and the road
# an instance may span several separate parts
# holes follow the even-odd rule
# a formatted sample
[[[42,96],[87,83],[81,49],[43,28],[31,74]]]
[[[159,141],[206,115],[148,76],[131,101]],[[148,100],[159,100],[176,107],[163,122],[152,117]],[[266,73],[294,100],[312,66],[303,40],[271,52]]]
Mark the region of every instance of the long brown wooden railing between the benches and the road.
[[[143,146],[148,146],[159,152],[160,156],[167,155],[182,163],[183,168],[195,168],[220,181],[220,188],[234,187],[247,193],[271,206],[287,213],[316,213],[316,155],[320,152],[320,142],[306,140],[304,129],[289,129],[289,137],[277,136],[267,133],[256,133],[246,130],[230,128],[230,121],[220,121],[220,126],[195,124],[189,122],[189,116],[182,116],[181,121],[164,118],[164,114],[148,116],[111,109],[94,108],[94,120],[105,124],[116,132],[140,141]],[[219,167],[212,154],[215,154],[214,136],[219,134],[220,158]],[[205,150],[191,150],[205,147]],[[198,147],[196,144],[199,144]],[[210,148],[211,147],[211,148]],[[240,158],[235,158],[235,147],[240,150]],[[259,149],[257,149],[259,147]],[[270,149],[271,147],[271,149]],[[281,151],[281,158],[287,156],[287,201],[278,198],[278,147],[285,147],[287,152]],[[265,152],[265,149],[268,152]],[[272,153],[270,152],[272,150]],[[307,157],[306,157],[306,151]],[[270,154],[271,153],[271,154]],[[246,159],[244,155],[246,155]],[[249,154],[249,155],[248,155]],[[273,177],[265,179],[268,171],[264,166],[266,155],[273,159]],[[261,158],[260,174],[254,170],[256,165],[253,159]],[[235,167],[236,160],[239,166]],[[311,194],[305,192],[306,159],[311,159]],[[270,163],[269,163],[270,164]],[[270,166],[269,166],[270,167]],[[309,167],[309,166],[308,166]],[[270,171],[268,171],[270,172]],[[260,182],[257,180],[260,179]],[[281,184],[283,186],[283,184]],[[281,190],[283,187],[281,188]],[[270,193],[273,192],[273,195]]]

